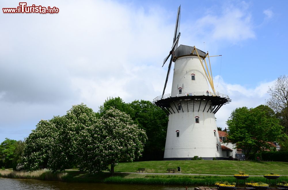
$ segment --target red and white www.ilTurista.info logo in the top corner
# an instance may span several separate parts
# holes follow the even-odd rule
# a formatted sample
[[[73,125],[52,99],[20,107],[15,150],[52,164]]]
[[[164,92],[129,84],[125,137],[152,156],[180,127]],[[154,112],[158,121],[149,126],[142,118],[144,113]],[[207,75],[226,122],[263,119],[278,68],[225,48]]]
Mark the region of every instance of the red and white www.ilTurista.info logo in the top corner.
[[[41,14],[55,14],[59,13],[59,8],[57,7],[43,7],[41,5],[26,6],[26,2],[20,2],[20,6],[16,8],[2,8],[3,13],[41,13]]]

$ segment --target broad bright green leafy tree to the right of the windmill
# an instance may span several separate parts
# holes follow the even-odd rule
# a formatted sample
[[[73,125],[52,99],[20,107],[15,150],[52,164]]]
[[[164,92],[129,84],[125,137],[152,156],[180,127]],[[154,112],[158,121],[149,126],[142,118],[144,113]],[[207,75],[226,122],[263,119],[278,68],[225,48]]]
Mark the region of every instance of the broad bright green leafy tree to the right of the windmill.
[[[285,138],[281,134],[283,127],[273,110],[264,105],[250,109],[236,108],[226,124],[229,126],[226,141],[241,148],[247,160],[258,151],[270,149],[272,145],[268,142]]]

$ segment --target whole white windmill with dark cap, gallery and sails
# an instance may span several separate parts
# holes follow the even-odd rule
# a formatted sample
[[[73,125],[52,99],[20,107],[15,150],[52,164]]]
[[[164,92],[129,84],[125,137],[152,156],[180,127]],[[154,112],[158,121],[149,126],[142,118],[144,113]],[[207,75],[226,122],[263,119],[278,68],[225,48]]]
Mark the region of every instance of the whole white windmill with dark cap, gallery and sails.
[[[181,6],[178,8],[172,50],[163,63],[171,55],[163,94],[154,99],[154,104],[169,115],[164,160],[188,160],[194,156],[206,160],[221,159],[215,113],[231,100],[227,95],[215,92],[208,52],[195,46],[180,45],[177,48],[180,12]],[[172,90],[171,94],[164,95],[172,61],[175,62]]]

